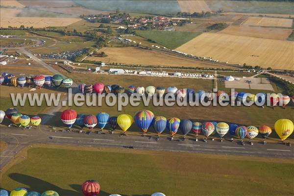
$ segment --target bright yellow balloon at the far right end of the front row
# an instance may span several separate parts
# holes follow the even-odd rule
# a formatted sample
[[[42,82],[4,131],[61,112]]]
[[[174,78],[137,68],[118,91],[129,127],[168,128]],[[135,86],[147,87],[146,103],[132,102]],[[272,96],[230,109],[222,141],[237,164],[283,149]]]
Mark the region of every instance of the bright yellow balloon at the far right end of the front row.
[[[282,141],[293,133],[293,122],[288,119],[279,119],[274,123],[274,130]]]

